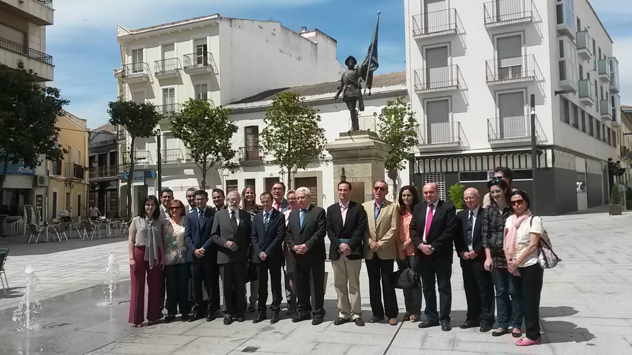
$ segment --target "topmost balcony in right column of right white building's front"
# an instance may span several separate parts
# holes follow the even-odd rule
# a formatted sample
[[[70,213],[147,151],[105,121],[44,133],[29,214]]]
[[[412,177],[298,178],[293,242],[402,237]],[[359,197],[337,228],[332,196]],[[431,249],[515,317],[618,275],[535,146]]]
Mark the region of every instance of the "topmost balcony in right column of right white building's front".
[[[483,4],[483,20],[487,28],[532,23],[535,13],[531,0],[494,0]]]

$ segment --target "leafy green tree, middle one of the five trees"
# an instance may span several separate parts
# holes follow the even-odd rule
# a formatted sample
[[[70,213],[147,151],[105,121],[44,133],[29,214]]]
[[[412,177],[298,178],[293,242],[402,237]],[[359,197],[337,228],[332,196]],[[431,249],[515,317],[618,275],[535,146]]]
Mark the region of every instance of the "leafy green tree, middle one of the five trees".
[[[202,190],[207,172],[217,162],[223,162],[224,167],[233,165],[230,160],[236,151],[231,148],[231,138],[237,126],[229,119],[231,111],[222,106],[212,108],[205,100],[189,99],[171,121],[171,133],[184,143],[202,170]]]

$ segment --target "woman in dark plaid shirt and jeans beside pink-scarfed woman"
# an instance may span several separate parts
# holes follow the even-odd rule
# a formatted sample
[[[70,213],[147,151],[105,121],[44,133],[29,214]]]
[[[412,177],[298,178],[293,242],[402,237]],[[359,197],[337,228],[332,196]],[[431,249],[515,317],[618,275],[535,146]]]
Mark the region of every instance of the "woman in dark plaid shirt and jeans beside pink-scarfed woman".
[[[504,231],[507,219],[513,214],[509,206],[509,185],[502,178],[487,183],[492,203],[483,212],[483,248],[485,248],[485,270],[492,273],[496,294],[498,328],[492,336],[509,334],[522,336],[522,290],[507,270],[507,258],[503,251]],[[509,326],[513,327],[510,331]]]

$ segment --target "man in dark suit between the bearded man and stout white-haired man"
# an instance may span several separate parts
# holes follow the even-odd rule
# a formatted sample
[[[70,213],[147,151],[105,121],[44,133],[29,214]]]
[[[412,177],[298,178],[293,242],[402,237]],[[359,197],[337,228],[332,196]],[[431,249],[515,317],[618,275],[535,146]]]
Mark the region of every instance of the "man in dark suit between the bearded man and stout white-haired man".
[[[259,196],[263,211],[255,215],[252,226],[252,260],[257,264],[259,279],[259,313],[253,323],[267,318],[265,303],[268,301],[268,271],[272,289],[272,318],[270,323],[279,322],[281,309],[281,264],[283,263],[283,241],[285,240],[285,216],[272,208],[272,194]]]

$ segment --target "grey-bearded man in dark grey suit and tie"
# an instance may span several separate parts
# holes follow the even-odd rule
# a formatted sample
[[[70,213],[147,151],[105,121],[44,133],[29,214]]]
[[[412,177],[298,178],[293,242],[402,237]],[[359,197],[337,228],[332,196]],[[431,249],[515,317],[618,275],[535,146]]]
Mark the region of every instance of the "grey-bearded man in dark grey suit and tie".
[[[227,200],[228,208],[215,214],[210,239],[217,244],[217,264],[226,306],[224,324],[229,325],[234,320],[245,320],[246,270],[252,224],[250,214],[239,208],[241,198],[237,191],[228,193]]]

